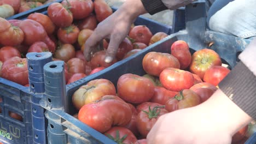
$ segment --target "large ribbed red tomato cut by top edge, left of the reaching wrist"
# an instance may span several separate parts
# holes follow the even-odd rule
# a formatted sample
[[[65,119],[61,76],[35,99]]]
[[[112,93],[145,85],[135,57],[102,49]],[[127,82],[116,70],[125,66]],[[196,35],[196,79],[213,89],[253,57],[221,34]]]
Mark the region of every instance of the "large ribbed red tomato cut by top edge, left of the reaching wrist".
[[[83,19],[89,16],[94,10],[94,3],[91,0],[68,0],[62,1],[63,7],[71,7],[70,11],[74,19]]]

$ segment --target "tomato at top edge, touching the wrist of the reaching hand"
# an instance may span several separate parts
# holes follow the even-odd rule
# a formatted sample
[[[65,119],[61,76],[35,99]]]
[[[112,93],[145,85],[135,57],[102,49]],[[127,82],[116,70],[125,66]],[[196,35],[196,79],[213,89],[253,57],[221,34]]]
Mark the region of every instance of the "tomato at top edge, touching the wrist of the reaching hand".
[[[104,0],[94,1],[94,11],[96,13],[96,19],[98,20],[98,22],[103,21],[108,16],[113,14],[112,9]]]

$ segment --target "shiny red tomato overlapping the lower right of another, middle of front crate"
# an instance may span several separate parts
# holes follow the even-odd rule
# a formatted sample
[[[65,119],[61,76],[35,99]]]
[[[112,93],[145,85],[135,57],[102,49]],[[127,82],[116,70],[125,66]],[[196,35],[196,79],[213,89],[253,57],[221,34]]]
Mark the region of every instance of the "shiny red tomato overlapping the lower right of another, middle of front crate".
[[[194,85],[194,77],[189,71],[166,68],[159,76],[162,86],[170,91],[179,92]]]

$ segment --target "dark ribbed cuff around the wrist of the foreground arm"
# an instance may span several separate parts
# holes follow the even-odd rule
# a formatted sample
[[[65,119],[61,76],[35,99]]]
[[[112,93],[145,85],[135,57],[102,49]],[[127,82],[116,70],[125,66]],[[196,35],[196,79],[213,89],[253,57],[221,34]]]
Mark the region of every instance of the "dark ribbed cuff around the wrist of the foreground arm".
[[[256,119],[256,76],[241,61],[219,83],[219,88],[253,119]]]

